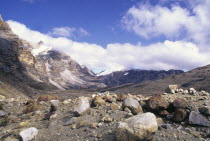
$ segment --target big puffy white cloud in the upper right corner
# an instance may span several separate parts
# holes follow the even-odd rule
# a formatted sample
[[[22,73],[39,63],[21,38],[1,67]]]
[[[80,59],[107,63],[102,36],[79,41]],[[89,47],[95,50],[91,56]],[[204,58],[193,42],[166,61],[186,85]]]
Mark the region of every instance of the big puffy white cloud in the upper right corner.
[[[189,7],[178,4],[171,8],[140,4],[131,7],[122,18],[123,26],[147,39],[164,35],[166,38],[209,42],[210,0],[188,1]]]

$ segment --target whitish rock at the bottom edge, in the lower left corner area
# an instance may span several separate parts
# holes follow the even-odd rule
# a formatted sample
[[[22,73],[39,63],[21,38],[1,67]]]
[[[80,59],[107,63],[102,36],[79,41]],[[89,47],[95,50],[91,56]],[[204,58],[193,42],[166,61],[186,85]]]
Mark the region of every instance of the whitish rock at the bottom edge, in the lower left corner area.
[[[19,135],[22,137],[23,141],[30,141],[35,138],[38,132],[39,132],[38,129],[31,127],[23,130],[22,132],[20,132]]]

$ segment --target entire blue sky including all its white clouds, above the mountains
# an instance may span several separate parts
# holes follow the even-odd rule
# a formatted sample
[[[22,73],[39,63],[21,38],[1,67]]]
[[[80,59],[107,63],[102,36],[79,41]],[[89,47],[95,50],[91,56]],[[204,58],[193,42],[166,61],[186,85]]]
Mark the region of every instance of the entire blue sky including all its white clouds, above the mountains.
[[[34,54],[56,49],[95,72],[210,64],[210,0],[1,0]]]

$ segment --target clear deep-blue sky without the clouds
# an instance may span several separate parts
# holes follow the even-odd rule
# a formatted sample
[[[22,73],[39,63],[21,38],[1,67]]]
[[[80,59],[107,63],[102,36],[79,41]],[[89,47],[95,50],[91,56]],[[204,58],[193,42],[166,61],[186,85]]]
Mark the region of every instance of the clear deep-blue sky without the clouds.
[[[1,0],[0,13],[5,20],[19,21],[42,33],[53,27],[84,28],[89,36],[74,40],[105,46],[142,40],[124,30],[120,23],[127,10],[137,3],[135,0]]]

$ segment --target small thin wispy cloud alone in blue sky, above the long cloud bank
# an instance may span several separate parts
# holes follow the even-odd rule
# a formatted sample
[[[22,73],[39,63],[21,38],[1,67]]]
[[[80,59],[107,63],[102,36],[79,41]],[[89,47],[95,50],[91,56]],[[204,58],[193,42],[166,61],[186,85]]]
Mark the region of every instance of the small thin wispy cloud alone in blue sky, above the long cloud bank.
[[[48,35],[54,37],[78,37],[78,36],[88,36],[89,33],[83,28],[74,28],[74,27],[55,27],[53,28]]]

